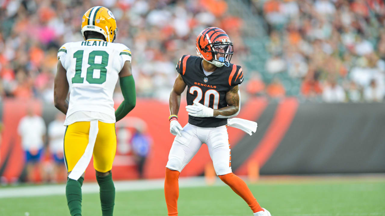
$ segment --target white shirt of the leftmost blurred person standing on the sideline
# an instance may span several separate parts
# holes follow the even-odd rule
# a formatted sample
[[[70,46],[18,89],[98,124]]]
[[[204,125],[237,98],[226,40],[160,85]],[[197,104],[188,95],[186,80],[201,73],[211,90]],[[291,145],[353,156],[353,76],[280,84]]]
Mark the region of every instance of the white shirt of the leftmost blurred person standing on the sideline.
[[[41,116],[24,116],[17,128],[18,134],[22,137],[23,150],[37,151],[43,148],[45,131],[45,123]]]

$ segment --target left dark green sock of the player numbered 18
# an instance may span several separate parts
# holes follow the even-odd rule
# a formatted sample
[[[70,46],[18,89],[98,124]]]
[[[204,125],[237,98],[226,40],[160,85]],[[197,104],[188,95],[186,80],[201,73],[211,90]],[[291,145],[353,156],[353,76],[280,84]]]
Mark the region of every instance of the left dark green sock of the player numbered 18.
[[[65,196],[67,196],[67,204],[70,209],[71,216],[82,216],[82,185],[84,178],[80,177],[77,181],[67,179],[65,186]]]

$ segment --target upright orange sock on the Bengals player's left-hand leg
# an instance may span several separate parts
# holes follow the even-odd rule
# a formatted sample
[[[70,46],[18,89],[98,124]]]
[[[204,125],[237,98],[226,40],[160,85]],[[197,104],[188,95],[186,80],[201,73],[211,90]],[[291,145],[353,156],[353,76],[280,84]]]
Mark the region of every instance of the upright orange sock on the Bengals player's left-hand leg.
[[[166,197],[167,212],[169,216],[178,216],[179,174],[179,171],[166,168],[164,196]]]

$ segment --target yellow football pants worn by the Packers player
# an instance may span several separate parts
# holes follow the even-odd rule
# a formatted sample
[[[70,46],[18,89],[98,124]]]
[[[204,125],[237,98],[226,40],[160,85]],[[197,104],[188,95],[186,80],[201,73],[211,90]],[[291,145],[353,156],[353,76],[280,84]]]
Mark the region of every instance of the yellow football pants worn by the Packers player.
[[[112,169],[116,152],[116,133],[114,123],[98,121],[99,131],[94,146],[94,168],[102,173]],[[75,164],[84,154],[88,145],[90,131],[89,121],[78,121],[65,130],[64,159],[67,171],[74,169]]]

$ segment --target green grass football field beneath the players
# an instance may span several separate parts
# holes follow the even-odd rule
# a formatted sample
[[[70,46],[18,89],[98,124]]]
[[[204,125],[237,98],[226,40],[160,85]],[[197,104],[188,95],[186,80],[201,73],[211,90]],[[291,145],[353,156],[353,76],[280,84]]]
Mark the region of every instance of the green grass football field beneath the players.
[[[20,187],[23,188],[23,187]],[[249,184],[273,216],[385,216],[385,180],[264,180]],[[1,193],[1,189],[0,189]],[[99,194],[83,194],[83,216],[100,216]],[[180,216],[252,216],[228,186],[181,188]],[[0,199],[1,216],[67,216],[65,195]],[[117,191],[116,216],[167,215],[162,189]]]

